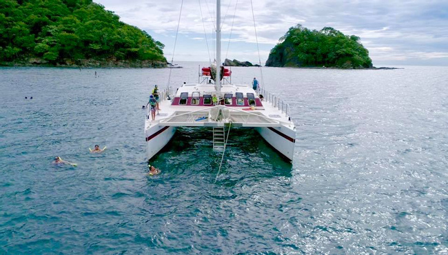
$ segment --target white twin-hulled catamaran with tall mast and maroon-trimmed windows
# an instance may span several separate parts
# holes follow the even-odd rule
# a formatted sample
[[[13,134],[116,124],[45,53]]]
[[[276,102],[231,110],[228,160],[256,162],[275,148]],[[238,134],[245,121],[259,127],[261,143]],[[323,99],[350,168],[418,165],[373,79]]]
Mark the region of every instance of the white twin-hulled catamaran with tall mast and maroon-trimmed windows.
[[[213,130],[213,150],[225,150],[229,129],[254,128],[285,159],[292,161],[296,127],[289,105],[264,88],[234,84],[232,71],[221,66],[221,1],[216,1],[216,63],[199,70],[198,83],[171,85],[159,92],[162,109],[152,120],[145,119],[147,159],[172,139],[177,127],[207,127]],[[264,86],[263,86],[264,87]],[[227,128],[227,132],[226,132]]]

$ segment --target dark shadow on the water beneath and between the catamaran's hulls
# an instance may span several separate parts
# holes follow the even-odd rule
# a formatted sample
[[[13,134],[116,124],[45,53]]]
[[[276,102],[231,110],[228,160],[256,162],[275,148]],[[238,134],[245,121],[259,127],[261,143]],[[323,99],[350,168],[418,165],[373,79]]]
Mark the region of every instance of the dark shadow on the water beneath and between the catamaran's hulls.
[[[226,129],[226,136],[228,130]],[[214,151],[212,128],[178,128],[170,143],[152,158],[172,178],[199,175],[214,181],[223,151]],[[176,177],[177,176],[177,177]],[[232,128],[217,183],[233,186],[247,179],[291,177],[292,164],[285,161],[253,128]]]

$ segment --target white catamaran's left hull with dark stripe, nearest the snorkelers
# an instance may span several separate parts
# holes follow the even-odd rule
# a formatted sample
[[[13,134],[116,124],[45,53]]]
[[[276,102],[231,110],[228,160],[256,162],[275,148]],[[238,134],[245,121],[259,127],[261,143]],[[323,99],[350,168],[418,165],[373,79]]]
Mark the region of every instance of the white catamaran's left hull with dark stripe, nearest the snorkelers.
[[[154,125],[145,132],[146,136],[146,156],[150,160],[157,152],[162,150],[172,139],[176,132],[175,127]]]

